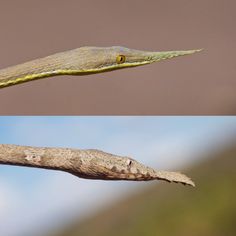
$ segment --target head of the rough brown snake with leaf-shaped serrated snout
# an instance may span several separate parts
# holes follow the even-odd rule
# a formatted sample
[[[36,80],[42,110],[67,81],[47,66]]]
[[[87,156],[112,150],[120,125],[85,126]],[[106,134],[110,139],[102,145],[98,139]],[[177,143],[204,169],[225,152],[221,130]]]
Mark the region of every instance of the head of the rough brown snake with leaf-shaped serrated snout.
[[[185,175],[178,172],[155,171],[130,157],[121,157],[99,150],[84,150],[79,166],[73,164],[72,174],[87,179],[103,180],[165,180],[194,186]]]

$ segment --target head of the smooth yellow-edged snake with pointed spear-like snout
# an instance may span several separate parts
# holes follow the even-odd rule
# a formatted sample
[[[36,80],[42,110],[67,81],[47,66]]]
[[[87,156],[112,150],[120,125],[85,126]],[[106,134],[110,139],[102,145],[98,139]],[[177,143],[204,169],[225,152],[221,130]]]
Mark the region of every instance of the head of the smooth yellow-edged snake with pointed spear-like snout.
[[[72,57],[71,64],[80,68],[79,73],[91,74],[112,71],[122,68],[141,66],[173,57],[184,56],[201,51],[201,49],[187,51],[148,52],[129,49],[121,46],[113,47],[81,47]],[[75,70],[76,71],[76,70]]]

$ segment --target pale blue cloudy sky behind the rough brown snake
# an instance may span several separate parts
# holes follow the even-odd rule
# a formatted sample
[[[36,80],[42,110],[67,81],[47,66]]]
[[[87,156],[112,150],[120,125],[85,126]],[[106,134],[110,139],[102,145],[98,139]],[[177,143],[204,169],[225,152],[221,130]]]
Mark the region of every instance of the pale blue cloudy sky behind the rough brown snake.
[[[180,171],[236,139],[235,131],[235,117],[0,117],[1,144],[96,148]],[[1,165],[0,235],[57,226],[150,184]]]

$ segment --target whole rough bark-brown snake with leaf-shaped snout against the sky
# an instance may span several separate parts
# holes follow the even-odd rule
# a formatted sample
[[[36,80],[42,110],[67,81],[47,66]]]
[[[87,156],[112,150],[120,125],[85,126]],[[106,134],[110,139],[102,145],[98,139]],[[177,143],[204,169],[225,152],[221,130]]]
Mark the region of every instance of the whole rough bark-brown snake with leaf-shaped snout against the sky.
[[[130,157],[95,149],[0,144],[0,164],[61,170],[85,179],[165,180],[195,186],[190,178],[179,172],[156,171]]]

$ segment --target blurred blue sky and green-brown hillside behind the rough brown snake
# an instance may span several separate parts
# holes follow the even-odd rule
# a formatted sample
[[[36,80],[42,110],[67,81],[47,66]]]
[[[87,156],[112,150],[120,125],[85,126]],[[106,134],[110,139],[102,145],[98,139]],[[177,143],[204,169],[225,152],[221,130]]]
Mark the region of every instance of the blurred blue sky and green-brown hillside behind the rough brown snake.
[[[0,165],[0,235],[235,235],[235,117],[0,117],[0,143],[97,148],[196,188]]]

